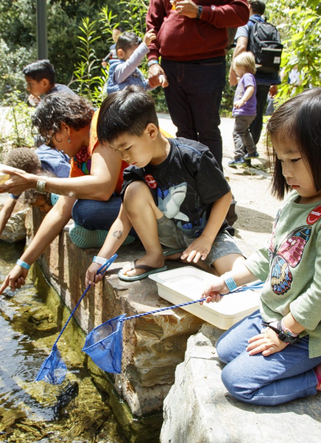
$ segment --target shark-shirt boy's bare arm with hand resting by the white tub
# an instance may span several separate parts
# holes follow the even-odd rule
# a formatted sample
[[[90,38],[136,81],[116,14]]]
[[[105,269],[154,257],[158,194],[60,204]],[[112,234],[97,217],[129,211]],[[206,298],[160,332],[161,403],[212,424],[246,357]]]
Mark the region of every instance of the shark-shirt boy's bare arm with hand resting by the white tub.
[[[232,201],[232,193],[229,191],[219,200],[213,203],[209,220],[200,237],[196,238],[183,252],[182,259],[197,263],[199,259],[205,260],[211,251],[213,241],[222,226],[227,211]]]

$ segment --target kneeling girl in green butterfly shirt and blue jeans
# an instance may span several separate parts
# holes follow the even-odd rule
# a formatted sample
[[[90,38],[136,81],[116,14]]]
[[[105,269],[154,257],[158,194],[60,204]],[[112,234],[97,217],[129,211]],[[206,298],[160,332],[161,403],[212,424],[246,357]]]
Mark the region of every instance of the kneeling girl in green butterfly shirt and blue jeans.
[[[283,199],[269,247],[213,277],[203,293],[219,301],[265,281],[260,309],[226,331],[217,354],[222,380],[247,403],[274,405],[321,390],[321,88],[280,106],[267,124],[272,192]]]

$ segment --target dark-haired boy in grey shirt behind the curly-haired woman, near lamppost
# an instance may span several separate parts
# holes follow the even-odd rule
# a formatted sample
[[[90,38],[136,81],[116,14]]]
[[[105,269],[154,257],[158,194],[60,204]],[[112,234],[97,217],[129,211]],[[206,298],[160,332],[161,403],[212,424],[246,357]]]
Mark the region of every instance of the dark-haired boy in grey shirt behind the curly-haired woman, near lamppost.
[[[68,86],[55,83],[55,70],[49,60],[37,60],[25,66],[22,72],[27,82],[27,91],[30,92],[30,104],[37,105],[41,95],[54,92],[74,94]]]

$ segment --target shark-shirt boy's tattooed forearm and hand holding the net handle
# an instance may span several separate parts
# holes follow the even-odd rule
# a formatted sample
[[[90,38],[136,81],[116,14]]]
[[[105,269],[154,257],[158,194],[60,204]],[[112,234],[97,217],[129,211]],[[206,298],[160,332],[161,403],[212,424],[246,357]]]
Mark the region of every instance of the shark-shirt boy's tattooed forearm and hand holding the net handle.
[[[123,207],[120,206],[119,214],[109,229],[108,235],[104,244],[102,245],[98,256],[102,258],[109,259],[114,255],[118,248],[122,245],[125,238],[127,237],[131,228],[131,223],[127,216],[127,213]],[[98,274],[97,271],[101,267],[101,264],[92,262],[86,271],[86,286],[88,284],[98,283],[102,279],[102,275]]]

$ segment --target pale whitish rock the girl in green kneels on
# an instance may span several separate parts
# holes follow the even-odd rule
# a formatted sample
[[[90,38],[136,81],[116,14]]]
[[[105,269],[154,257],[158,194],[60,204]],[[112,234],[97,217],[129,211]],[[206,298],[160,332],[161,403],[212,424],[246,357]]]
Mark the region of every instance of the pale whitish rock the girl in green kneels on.
[[[228,394],[215,349],[223,332],[204,324],[189,338],[185,361],[164,401],[161,443],[318,441],[321,394],[273,407],[242,403]]]

